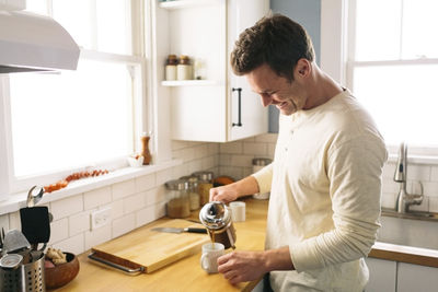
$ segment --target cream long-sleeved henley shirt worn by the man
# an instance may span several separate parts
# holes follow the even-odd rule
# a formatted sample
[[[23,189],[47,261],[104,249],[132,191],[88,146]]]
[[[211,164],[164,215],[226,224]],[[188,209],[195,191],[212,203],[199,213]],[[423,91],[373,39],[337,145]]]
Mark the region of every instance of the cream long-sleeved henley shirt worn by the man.
[[[270,272],[274,291],[364,290],[387,157],[374,122],[347,90],[280,115],[274,162],[253,175],[261,194],[270,191],[265,248],[289,246],[296,268]]]

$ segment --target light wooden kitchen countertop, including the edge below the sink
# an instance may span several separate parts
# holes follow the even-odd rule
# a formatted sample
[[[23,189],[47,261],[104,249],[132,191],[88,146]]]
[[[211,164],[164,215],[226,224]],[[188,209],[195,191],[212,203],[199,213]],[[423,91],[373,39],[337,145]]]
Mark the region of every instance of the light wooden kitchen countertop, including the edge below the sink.
[[[263,250],[265,243],[267,201],[245,199],[246,221],[234,222],[237,249]],[[160,219],[150,225],[169,220]],[[198,212],[189,220],[198,221]],[[222,275],[208,275],[199,265],[200,252],[183,258],[152,273],[129,276],[88,258],[90,252],[79,255],[80,271],[67,285],[54,291],[252,291],[258,281],[231,285]],[[370,257],[396,260],[438,268],[438,250],[376,243]]]

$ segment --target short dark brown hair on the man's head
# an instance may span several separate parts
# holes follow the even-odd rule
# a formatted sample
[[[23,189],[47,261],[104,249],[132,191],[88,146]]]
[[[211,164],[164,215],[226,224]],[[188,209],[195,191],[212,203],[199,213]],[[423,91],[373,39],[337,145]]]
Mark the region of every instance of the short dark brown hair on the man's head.
[[[278,75],[293,80],[298,60],[314,60],[312,40],[306,30],[281,14],[265,16],[240,34],[231,52],[231,67],[243,75],[267,63]]]

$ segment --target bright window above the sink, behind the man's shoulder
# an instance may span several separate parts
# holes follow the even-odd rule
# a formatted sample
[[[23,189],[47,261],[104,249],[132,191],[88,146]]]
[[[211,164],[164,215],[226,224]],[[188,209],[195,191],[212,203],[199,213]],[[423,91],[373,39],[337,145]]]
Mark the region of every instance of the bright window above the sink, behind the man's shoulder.
[[[348,3],[347,86],[389,145],[437,154],[438,1]]]

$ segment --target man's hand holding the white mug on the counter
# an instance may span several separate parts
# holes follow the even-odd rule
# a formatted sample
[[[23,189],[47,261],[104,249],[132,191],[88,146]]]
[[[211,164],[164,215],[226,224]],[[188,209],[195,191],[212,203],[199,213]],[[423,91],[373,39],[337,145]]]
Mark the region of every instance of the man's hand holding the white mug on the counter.
[[[218,258],[218,271],[231,283],[256,280],[268,270],[263,252],[232,252]]]

